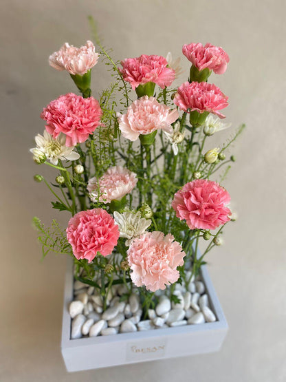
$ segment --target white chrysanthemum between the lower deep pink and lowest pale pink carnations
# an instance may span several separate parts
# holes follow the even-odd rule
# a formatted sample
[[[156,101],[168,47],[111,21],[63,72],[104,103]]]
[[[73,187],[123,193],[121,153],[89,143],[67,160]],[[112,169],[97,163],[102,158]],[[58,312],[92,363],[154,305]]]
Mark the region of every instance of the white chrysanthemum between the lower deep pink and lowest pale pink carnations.
[[[140,212],[129,211],[113,213],[115,224],[118,225],[120,237],[126,237],[126,246],[129,246],[135,237],[139,237],[152,223],[151,219],[141,217]]]

